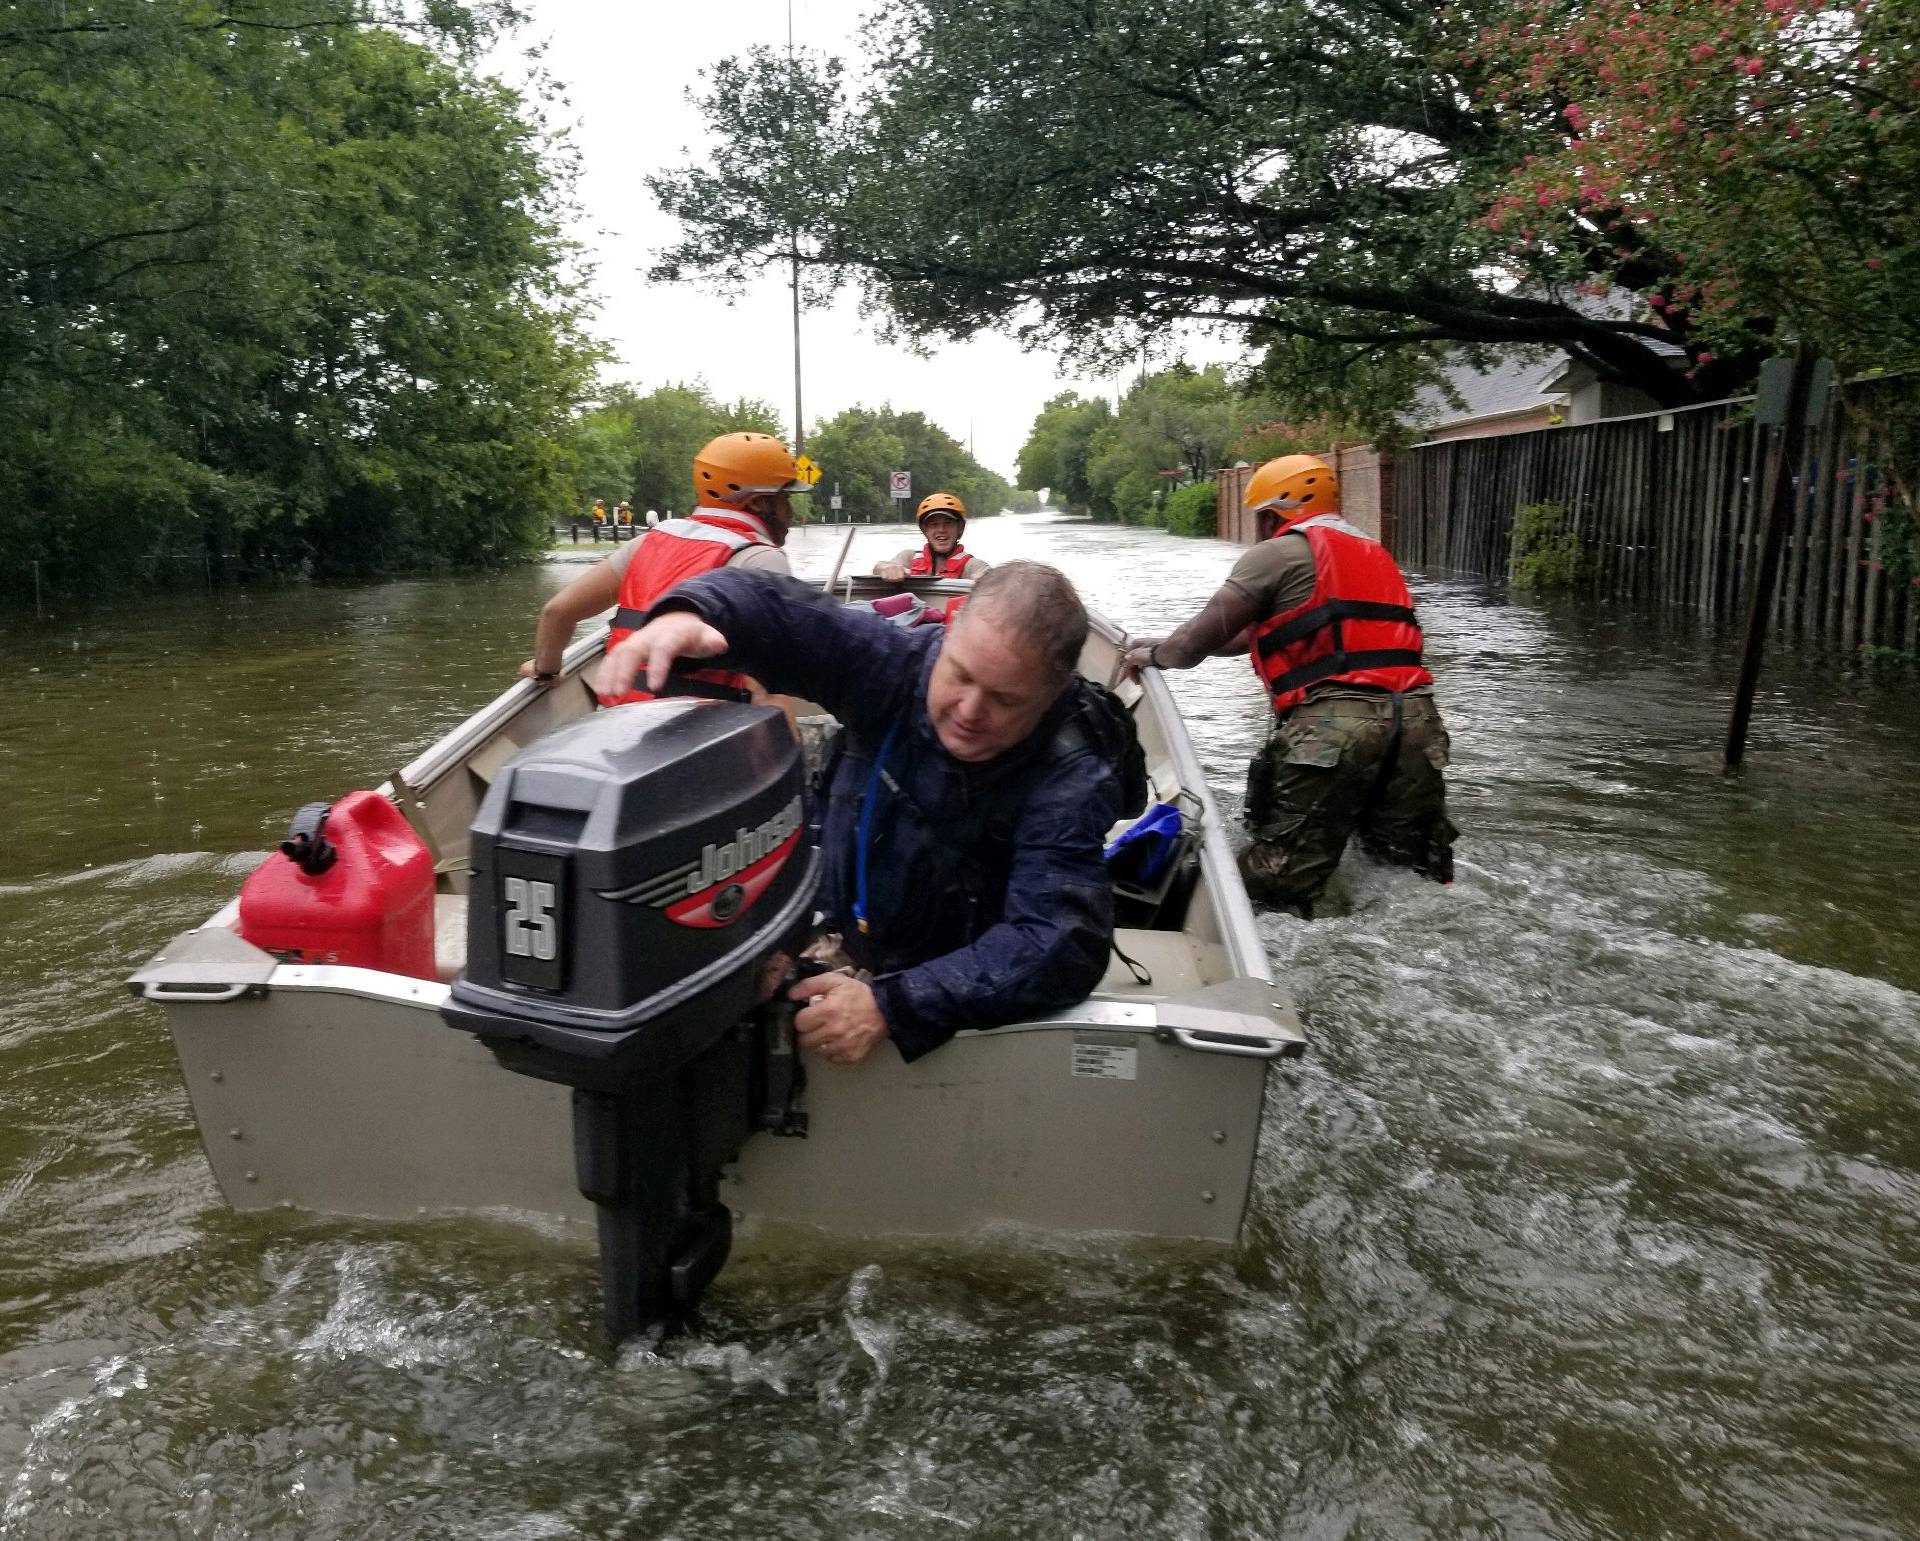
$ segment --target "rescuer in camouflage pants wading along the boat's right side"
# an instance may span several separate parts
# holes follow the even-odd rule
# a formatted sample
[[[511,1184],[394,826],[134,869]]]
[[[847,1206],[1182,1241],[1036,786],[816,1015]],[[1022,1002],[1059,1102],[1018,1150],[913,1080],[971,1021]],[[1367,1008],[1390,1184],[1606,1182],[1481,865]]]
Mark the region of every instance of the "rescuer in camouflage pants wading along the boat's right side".
[[[1252,652],[1275,727],[1246,775],[1248,892],[1311,915],[1354,833],[1371,856],[1452,883],[1448,733],[1407,580],[1340,518],[1325,461],[1267,461],[1246,507],[1260,541],[1198,616],[1129,651],[1127,668]]]

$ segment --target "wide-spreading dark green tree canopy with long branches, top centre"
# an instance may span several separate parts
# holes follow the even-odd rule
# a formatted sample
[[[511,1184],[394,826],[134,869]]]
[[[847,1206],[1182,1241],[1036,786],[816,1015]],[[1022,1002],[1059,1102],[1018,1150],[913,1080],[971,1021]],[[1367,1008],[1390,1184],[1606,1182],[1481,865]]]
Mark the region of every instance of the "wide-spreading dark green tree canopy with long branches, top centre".
[[[660,273],[743,280],[795,226],[803,261],[916,336],[1004,326],[1110,353],[1212,320],[1308,344],[1321,372],[1553,344],[1657,401],[1699,399],[1724,368],[1686,380],[1645,345],[1684,330],[1601,313],[1559,255],[1530,265],[1480,221],[1567,123],[1549,84],[1482,96],[1494,65],[1473,42],[1549,8],[883,0],[862,90],[833,61],[789,77],[772,56],[710,77],[720,152],[655,180],[685,226]],[[1670,261],[1603,238],[1592,211],[1546,215],[1584,278],[1640,288]]]

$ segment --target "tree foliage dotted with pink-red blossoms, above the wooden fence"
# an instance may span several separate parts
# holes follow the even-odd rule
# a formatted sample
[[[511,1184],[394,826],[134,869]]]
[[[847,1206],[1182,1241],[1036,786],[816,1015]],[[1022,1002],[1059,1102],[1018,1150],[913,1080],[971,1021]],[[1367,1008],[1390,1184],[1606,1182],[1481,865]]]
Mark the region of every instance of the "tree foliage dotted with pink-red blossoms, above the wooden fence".
[[[1509,261],[1620,276],[1695,370],[1778,332],[1853,367],[1920,355],[1908,0],[1544,0],[1469,58],[1532,129],[1486,217]]]

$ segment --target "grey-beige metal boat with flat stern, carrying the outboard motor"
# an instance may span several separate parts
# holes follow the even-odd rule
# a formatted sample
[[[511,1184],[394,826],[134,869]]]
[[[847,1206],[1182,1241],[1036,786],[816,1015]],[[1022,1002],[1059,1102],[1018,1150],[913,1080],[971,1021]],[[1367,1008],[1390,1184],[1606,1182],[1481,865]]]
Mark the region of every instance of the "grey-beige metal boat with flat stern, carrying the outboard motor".
[[[900,585],[851,578],[837,587],[858,599]],[[947,603],[970,585],[908,587]],[[707,871],[718,883],[795,844],[791,818],[781,823],[780,810],[791,808],[803,773],[797,764],[772,764],[766,745],[774,737],[764,731],[770,718],[778,722],[772,710],[655,702],[599,714],[588,677],[605,643],[605,629],[576,643],[549,689],[515,683],[378,789],[430,856],[430,965],[407,973],[282,961],[240,936],[236,900],[132,977],[134,992],[165,1009],[228,1203],[390,1219],[490,1213],[582,1228],[597,1219],[614,1336],[662,1303],[697,1299],[728,1247],[724,1224],[710,1234],[689,1221],[708,1211],[732,1213],[749,1230],[797,1222],[852,1236],[1018,1224],[1215,1244],[1236,1238],[1267,1065],[1300,1052],[1304,1040],[1290,1004],[1267,979],[1219,812],[1156,672],[1116,689],[1135,712],[1150,802],[1183,810],[1185,835],[1150,889],[1119,889],[1116,956],[1098,988],[1044,1019],[960,1032],[910,1065],[883,1052],[852,1067],[806,1063],[793,1077],[781,1063],[778,1023],[755,1015],[741,983],[781,936],[756,933],[758,940],[712,956],[689,952],[682,969],[664,952],[609,958],[639,921],[595,933],[580,923],[591,917],[580,892],[557,906],[538,936],[526,925],[526,885],[541,879],[530,877],[538,862],[528,867],[530,856],[511,854],[513,819],[547,819],[551,854],[570,850],[563,825],[578,839],[593,816],[568,825],[572,816],[555,821],[551,810],[528,812],[520,791],[507,796],[503,787],[493,798],[490,791],[503,779],[551,785],[551,775],[540,781],[536,762],[582,735],[605,739],[614,716],[639,714],[620,729],[630,739],[641,735],[643,718],[693,723],[655,735],[676,745],[664,758],[664,750],[622,748],[626,758],[612,758],[641,766],[634,783],[593,789],[595,798],[628,810],[612,823],[645,823],[649,850],[685,858],[672,873],[680,887],[662,892],[714,892],[691,879]],[[1094,616],[1079,672],[1114,685],[1123,652],[1125,635]],[[787,743],[783,729],[778,741]],[[787,754],[797,762],[789,743]],[[682,785],[697,777],[697,798],[659,793],[672,779],[660,770],[666,760],[680,766]],[[682,806],[693,802],[724,839],[693,827],[695,814]],[[735,818],[735,802],[751,804],[755,816]],[[507,804],[520,812],[505,812]],[[636,808],[649,816],[636,823]],[[609,860],[628,856],[612,850]],[[578,865],[586,852],[566,860]],[[564,892],[568,879],[555,881]],[[580,879],[572,881],[578,890]],[[647,896],[639,892],[645,883],[628,887],[634,892],[616,887],[603,896],[624,894],[611,904]],[[739,904],[735,889],[716,902]],[[772,913],[787,902],[774,894],[762,908]],[[733,933],[722,921],[676,935]],[[620,979],[651,971],[647,1002],[664,1006],[584,1000],[584,981],[609,969]],[[467,1006],[449,1000],[455,981]],[[540,988],[520,988],[528,984]],[[541,990],[551,1008],[509,1013],[503,1027],[468,1009],[472,1000]],[[668,1021],[672,1042],[687,1044],[678,1059],[662,1050]],[[480,1032],[468,1031],[476,1023]],[[593,1029],[582,1038],[580,1023],[616,1025],[630,1034],[622,1054],[645,1069],[612,1075],[582,1069],[578,1055],[566,1059],[568,1046],[591,1040]],[[599,1040],[591,1042],[589,1054],[601,1054]],[[718,1044],[730,1048],[722,1054]],[[636,1075],[660,1100],[657,1119],[593,1103],[618,1102],[626,1092],[614,1082],[634,1084]],[[662,1121],[674,1123],[670,1138],[657,1126]],[[705,1190],[718,1201],[707,1209]]]

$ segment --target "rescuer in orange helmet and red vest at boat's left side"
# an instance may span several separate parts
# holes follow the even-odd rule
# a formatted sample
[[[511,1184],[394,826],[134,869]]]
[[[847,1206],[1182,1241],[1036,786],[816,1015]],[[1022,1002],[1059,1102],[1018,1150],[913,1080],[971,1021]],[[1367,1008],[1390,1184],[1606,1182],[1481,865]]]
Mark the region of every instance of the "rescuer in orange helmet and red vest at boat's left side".
[[[793,451],[772,434],[722,434],[712,439],[693,457],[693,512],[687,518],[668,514],[651,524],[553,595],[540,610],[534,656],[520,664],[520,677],[538,683],[557,679],[574,628],[611,605],[618,610],[607,647],[616,647],[653,603],[685,578],[718,566],[787,574],[781,547],[793,526],[793,493],[810,486]],[[668,695],[745,700],[753,695],[753,681],[737,670],[699,670],[676,677]],[[630,700],[651,700],[651,695],[601,695],[605,706]]]

